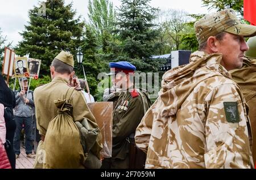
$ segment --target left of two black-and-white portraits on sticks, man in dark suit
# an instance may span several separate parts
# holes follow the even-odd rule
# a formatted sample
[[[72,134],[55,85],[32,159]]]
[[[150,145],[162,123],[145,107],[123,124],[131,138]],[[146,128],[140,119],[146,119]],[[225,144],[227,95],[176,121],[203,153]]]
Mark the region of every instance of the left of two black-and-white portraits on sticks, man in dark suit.
[[[18,57],[14,60],[14,76],[25,77],[30,72],[27,65],[27,57]]]

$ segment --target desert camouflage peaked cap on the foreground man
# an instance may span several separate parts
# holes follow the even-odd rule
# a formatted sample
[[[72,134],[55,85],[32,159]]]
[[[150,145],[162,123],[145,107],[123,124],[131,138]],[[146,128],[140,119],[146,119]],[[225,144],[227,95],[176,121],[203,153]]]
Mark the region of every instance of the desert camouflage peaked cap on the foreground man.
[[[233,35],[251,37],[256,35],[256,26],[242,24],[232,8],[205,15],[195,23],[196,38],[199,44],[207,41],[208,37],[221,32]]]

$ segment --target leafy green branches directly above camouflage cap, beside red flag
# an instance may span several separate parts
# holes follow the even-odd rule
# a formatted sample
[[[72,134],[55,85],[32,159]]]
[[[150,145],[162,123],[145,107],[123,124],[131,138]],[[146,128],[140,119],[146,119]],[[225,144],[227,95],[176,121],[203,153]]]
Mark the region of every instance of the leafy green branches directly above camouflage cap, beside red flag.
[[[225,8],[233,8],[239,15],[243,17],[243,0],[202,0],[204,6],[208,9],[216,8],[218,11]]]

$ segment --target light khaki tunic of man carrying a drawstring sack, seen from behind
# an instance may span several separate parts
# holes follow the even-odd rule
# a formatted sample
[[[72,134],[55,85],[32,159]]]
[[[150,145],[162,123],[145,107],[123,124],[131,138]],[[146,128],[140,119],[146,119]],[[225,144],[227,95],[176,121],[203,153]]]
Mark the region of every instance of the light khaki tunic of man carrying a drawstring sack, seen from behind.
[[[57,115],[57,107],[54,103],[55,100],[63,100],[65,94],[69,89],[68,80],[63,78],[54,78],[51,83],[38,87],[34,91],[34,102],[35,102],[35,110],[36,110],[36,126],[39,130],[39,134],[42,136],[46,135],[47,128],[49,122],[55,115]],[[86,105],[86,101],[84,95],[81,91],[73,92],[73,95],[70,99],[70,104],[73,106],[72,116],[74,121],[82,121],[82,119],[87,118],[90,121],[96,122],[93,114],[88,109]],[[81,144],[77,144],[81,145]],[[38,152],[41,152],[41,148],[43,149],[44,143],[40,141]],[[38,155],[38,154],[37,154]],[[42,168],[36,157],[35,168]],[[39,160],[40,161],[40,160]],[[82,160],[80,161],[82,162]],[[39,162],[42,163],[42,162]],[[78,165],[74,168],[81,168],[82,166]]]

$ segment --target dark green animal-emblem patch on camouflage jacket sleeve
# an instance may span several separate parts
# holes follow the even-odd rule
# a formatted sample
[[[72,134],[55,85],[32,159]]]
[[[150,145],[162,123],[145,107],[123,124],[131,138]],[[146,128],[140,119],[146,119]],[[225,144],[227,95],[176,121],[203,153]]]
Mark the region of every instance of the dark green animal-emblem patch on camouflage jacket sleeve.
[[[223,102],[224,110],[226,115],[226,121],[228,122],[239,122],[240,118],[238,115],[237,102]]]

